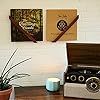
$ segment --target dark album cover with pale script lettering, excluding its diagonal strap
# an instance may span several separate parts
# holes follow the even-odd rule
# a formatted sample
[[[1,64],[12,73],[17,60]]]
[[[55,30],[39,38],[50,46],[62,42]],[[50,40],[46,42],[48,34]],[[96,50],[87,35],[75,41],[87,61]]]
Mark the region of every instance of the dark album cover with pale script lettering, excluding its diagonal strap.
[[[42,9],[11,9],[10,16],[15,24],[11,22],[11,41],[31,41],[30,35],[36,41],[43,41],[43,11]],[[26,32],[26,35],[24,32]]]

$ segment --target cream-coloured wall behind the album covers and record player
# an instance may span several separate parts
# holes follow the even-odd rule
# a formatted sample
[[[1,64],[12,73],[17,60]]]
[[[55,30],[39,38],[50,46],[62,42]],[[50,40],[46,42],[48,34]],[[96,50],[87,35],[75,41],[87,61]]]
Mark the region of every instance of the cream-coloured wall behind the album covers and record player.
[[[0,1],[0,70],[7,62],[12,52],[18,51],[12,62],[32,57],[13,70],[25,72],[31,76],[18,80],[20,85],[45,85],[48,77],[59,77],[66,69],[66,42],[11,42],[10,9],[43,9],[43,24],[45,38],[46,9],[75,8],[80,16],[78,20],[78,39],[74,42],[100,42],[100,0],[1,0]],[[73,41],[72,41],[73,42]]]

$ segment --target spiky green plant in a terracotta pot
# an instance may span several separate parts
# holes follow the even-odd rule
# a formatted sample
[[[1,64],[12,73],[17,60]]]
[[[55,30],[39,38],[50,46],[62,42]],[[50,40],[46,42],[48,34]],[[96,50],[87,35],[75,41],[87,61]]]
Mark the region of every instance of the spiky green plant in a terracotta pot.
[[[10,72],[17,67],[18,65],[20,65],[21,63],[31,59],[25,59],[22,60],[21,62],[12,65],[10,68],[7,69],[7,66],[9,65],[11,59],[13,58],[14,54],[16,53],[17,49],[13,52],[13,54],[11,55],[11,57],[9,58],[9,60],[7,61],[6,65],[4,66],[1,75],[0,75],[0,100],[9,100],[10,98],[10,94],[12,92],[12,84],[10,83],[11,81],[18,79],[18,78],[22,78],[22,77],[26,77],[26,76],[30,76],[29,74],[25,74],[25,73],[14,73],[13,75],[9,75]]]

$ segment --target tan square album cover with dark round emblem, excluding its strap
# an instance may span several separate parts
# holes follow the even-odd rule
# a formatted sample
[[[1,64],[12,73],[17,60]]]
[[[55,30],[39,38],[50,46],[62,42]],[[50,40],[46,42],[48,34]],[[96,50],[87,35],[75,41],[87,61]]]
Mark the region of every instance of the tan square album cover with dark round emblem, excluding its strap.
[[[77,17],[77,9],[48,9],[46,11],[46,40],[53,41]],[[77,39],[77,21],[59,41]]]

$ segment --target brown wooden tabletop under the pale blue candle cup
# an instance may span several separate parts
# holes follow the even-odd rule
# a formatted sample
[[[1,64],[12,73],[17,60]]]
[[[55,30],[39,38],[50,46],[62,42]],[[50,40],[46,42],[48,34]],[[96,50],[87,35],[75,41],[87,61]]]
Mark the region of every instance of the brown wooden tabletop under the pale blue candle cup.
[[[58,92],[49,92],[45,87],[15,88],[16,100],[84,100],[78,98],[64,98],[63,89]]]

